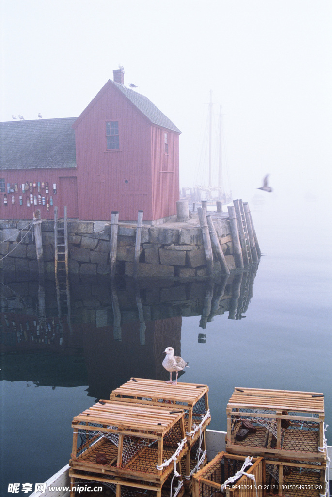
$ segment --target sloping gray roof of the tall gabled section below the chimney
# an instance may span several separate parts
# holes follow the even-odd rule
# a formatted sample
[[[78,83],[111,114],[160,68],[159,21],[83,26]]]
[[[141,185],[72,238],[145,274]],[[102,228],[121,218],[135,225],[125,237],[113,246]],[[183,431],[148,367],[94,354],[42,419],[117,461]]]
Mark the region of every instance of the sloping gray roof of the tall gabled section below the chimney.
[[[156,107],[146,96],[141,95],[130,88],[126,88],[126,86],[122,84],[115,83],[112,80],[109,81],[119,88],[119,90],[126,95],[127,98],[129,98],[134,106],[137,107],[137,109],[140,110],[153,124],[176,131],[177,133],[181,133],[179,128],[177,128],[175,124],[173,124],[172,121],[170,121],[168,117],[165,116],[165,114],[163,114],[161,110],[159,110],[158,107]]]

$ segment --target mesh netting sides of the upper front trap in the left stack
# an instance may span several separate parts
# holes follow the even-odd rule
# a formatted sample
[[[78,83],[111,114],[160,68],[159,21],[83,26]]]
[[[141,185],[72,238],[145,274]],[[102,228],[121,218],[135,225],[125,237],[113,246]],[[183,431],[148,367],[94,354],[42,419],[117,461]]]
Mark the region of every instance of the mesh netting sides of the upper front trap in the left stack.
[[[94,427],[94,429],[91,429]],[[89,429],[90,428],[90,429]],[[100,429],[96,429],[100,428]],[[115,430],[115,431],[106,431]],[[157,474],[158,462],[158,440],[149,437],[151,431],[135,430],[123,434],[121,461],[118,460],[120,434],[116,432],[117,427],[108,425],[106,429],[97,423],[88,423],[86,427],[78,428],[80,443],[76,449],[76,459],[80,462],[93,463],[99,470],[102,467],[118,467],[130,469],[143,473]],[[146,437],[141,436],[146,434]],[[172,425],[163,437],[163,460],[173,456],[182,441],[181,421]]]

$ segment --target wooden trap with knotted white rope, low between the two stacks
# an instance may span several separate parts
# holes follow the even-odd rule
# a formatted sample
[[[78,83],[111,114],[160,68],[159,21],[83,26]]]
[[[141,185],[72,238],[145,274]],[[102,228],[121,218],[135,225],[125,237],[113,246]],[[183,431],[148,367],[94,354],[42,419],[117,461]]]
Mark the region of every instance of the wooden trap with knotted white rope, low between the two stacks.
[[[263,457],[219,452],[193,476],[193,497],[257,497],[264,495]]]

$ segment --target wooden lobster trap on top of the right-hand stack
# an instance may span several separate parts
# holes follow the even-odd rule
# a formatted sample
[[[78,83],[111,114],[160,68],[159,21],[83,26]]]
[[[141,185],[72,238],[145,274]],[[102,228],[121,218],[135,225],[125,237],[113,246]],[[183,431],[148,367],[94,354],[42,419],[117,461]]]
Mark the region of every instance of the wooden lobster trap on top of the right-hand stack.
[[[226,408],[232,454],[324,461],[324,395],[235,388]]]

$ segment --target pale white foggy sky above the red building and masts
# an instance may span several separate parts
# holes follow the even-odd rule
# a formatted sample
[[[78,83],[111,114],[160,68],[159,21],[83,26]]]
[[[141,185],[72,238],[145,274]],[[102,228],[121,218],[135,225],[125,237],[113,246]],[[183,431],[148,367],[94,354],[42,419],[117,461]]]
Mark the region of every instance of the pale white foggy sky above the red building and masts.
[[[121,63],[181,129],[194,186],[203,115],[222,104],[234,198],[330,196],[332,2],[1,0],[1,121],[75,117]],[[248,198],[249,197],[249,198]]]

